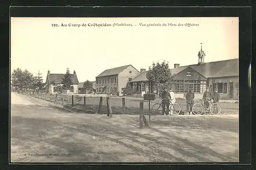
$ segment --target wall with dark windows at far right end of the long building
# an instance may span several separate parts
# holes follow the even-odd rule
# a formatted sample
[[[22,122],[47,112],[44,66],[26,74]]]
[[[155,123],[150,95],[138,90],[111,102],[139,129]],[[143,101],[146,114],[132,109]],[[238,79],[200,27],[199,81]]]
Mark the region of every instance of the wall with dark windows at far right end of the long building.
[[[236,83],[239,83],[239,77],[222,77],[222,78],[208,78],[208,85],[213,83],[227,83],[227,93],[220,93],[221,99],[230,99],[229,84],[233,83],[233,100],[239,100],[239,88],[236,87]],[[218,85],[216,86],[218,88]]]

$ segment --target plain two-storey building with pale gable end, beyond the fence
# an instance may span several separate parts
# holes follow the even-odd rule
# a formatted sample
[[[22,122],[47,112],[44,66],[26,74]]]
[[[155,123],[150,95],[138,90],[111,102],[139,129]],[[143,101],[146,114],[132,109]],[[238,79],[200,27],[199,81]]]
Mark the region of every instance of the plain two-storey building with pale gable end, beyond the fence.
[[[119,94],[122,95],[122,88],[139,73],[132,65],[106,69],[96,77],[96,93],[115,95],[119,91]]]

